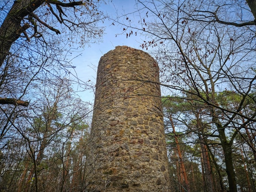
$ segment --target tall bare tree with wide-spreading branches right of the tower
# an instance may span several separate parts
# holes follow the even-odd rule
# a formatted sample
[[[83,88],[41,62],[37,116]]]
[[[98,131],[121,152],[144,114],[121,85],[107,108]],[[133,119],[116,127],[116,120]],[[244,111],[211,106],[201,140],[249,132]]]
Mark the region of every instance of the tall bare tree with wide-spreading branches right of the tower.
[[[254,0],[138,0],[136,13],[115,20],[127,38],[145,35],[141,47],[161,65],[166,92],[207,108],[212,128],[202,136],[219,139],[232,192],[237,191],[234,140],[256,122],[255,111],[245,112],[256,106],[254,6]],[[134,21],[133,15],[140,19]],[[237,100],[227,105],[227,97]]]

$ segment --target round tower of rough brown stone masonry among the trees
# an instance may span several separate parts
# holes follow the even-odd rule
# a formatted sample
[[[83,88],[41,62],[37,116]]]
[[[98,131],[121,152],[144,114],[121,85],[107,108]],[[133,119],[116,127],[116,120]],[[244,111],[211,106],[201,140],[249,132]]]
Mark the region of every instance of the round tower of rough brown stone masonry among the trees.
[[[159,66],[146,52],[118,46],[101,57],[88,154],[88,191],[168,191],[158,83]]]

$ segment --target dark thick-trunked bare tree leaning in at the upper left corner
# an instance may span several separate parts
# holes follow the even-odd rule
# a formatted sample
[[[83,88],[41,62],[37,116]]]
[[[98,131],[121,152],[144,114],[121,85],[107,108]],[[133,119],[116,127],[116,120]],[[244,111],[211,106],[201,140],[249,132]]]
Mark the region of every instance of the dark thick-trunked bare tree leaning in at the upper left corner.
[[[74,73],[66,60],[71,46],[83,47],[102,35],[97,4],[93,0],[0,3],[0,104],[28,106],[22,98],[41,73],[54,75],[51,71],[57,68]]]

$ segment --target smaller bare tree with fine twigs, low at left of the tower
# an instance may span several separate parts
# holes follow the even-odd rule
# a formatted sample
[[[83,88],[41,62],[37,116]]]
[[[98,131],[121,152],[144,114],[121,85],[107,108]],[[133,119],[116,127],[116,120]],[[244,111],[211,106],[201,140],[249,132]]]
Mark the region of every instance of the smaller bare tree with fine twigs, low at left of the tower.
[[[83,149],[90,109],[76,98],[71,81],[62,79],[55,79],[54,84],[45,82],[38,86],[29,109],[20,112],[1,139],[2,190],[71,189],[71,178],[67,179],[67,176],[73,175],[72,171],[79,171],[84,162],[77,165],[73,156],[85,158]],[[78,184],[73,187],[81,188]]]

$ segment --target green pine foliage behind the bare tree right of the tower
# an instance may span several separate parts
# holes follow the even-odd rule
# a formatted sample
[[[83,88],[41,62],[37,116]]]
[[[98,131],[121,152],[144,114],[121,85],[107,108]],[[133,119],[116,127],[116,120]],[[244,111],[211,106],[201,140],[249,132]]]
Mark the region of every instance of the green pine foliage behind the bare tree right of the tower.
[[[243,96],[242,94],[235,93],[233,91],[224,91],[224,92],[216,92],[214,94],[214,97],[212,97],[211,94],[208,94],[206,96],[204,92],[200,93],[200,95],[203,97],[200,98],[199,96],[185,94],[183,97],[176,97],[176,96],[164,96],[162,98],[162,105],[163,105],[163,113],[165,117],[165,125],[168,127],[169,130],[166,134],[166,140],[167,140],[167,146],[168,146],[168,153],[169,153],[169,161],[170,161],[170,174],[171,178],[176,180],[177,183],[179,183],[179,167],[175,166],[177,161],[180,161],[177,156],[177,143],[175,141],[175,138],[177,139],[180,149],[182,151],[183,159],[186,164],[189,164],[189,162],[195,162],[193,167],[194,173],[197,173],[199,175],[199,178],[192,182],[190,180],[190,184],[193,185],[196,190],[202,190],[197,187],[197,185],[201,182],[203,182],[202,178],[202,172],[199,169],[200,166],[200,158],[202,149],[200,148],[200,144],[204,143],[208,147],[208,155],[209,158],[212,159],[212,174],[213,178],[215,178],[215,182],[218,182],[218,180],[221,180],[221,183],[225,183],[226,173],[221,169],[222,164],[225,162],[224,154],[221,149],[221,140],[219,138],[218,132],[216,131],[215,124],[212,123],[211,118],[211,107],[207,105],[205,100],[207,100],[207,97],[212,98],[215,100],[216,105],[220,107],[225,107],[230,110],[236,110],[238,107],[241,107],[243,110],[243,113],[254,113],[255,111],[255,92],[252,92],[248,94],[247,96]],[[243,105],[241,105],[243,103]],[[240,106],[241,105],[241,106]],[[218,110],[218,115],[220,115],[221,119],[220,121],[225,123],[226,120],[224,119],[224,115],[228,115],[228,113],[223,113],[223,111]],[[180,130],[176,131],[176,133],[173,133],[170,131],[170,122],[168,121],[168,118],[172,118],[174,122],[175,129]],[[238,118],[237,121],[242,122],[242,119]],[[246,134],[243,134],[243,137],[237,135],[234,137],[234,135],[237,134],[236,129],[229,129],[226,131],[226,139],[227,142],[233,142],[232,140],[236,140],[238,143],[243,143],[244,139],[247,138]],[[196,136],[198,135],[198,136]],[[201,139],[200,139],[201,138]],[[238,140],[238,138],[240,138]],[[246,154],[249,155],[252,152],[250,149],[247,150]],[[215,155],[214,155],[215,154]],[[250,156],[250,155],[249,155]],[[248,157],[249,157],[248,156]],[[246,161],[250,161],[249,158],[246,158]],[[247,164],[248,162],[245,162],[241,156],[241,153],[239,151],[234,149],[233,153],[234,158],[234,167],[235,172],[239,175],[237,176],[238,185],[241,185],[241,188],[243,190],[248,190],[248,186],[253,186],[254,180],[250,179],[250,183],[248,184],[247,177],[245,173],[250,175],[250,178],[253,178],[252,176],[252,170],[255,168],[250,168],[245,172],[243,164]],[[203,160],[201,160],[203,161]],[[190,164],[192,165],[192,164]],[[248,166],[249,164],[247,164]],[[190,173],[192,170],[190,170],[190,166],[186,166],[186,171],[188,173],[188,177],[190,177]],[[247,184],[246,184],[247,183]],[[176,188],[179,188],[179,186],[176,186]],[[221,186],[219,186],[221,188]]]

